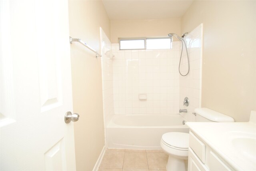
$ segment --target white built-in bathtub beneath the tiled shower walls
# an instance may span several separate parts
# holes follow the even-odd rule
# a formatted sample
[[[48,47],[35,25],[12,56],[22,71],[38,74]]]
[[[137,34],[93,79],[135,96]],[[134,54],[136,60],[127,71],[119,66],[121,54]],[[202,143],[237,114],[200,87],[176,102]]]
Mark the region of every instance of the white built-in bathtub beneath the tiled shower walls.
[[[166,132],[185,132],[186,121],[173,115],[114,115],[106,127],[108,148],[161,149],[160,140]]]

